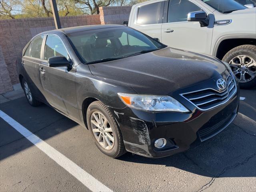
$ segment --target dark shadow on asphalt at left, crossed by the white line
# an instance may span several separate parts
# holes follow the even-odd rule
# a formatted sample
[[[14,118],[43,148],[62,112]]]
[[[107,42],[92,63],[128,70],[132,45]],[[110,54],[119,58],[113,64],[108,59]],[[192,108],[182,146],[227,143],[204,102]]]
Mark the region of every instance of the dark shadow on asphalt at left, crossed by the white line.
[[[2,103],[0,110],[42,140],[47,140],[78,125],[45,104],[38,107],[30,106],[25,97]],[[31,146],[33,144],[30,141],[0,118],[0,160]]]

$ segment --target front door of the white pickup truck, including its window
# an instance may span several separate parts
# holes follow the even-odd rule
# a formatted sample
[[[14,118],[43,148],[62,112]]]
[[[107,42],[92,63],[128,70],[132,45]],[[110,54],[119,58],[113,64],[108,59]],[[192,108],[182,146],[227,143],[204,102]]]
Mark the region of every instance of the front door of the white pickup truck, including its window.
[[[168,6],[168,11],[166,21],[162,24],[162,43],[182,50],[210,54],[213,26],[201,27],[199,22],[187,21],[189,12],[202,10],[195,1],[169,0],[165,6]]]

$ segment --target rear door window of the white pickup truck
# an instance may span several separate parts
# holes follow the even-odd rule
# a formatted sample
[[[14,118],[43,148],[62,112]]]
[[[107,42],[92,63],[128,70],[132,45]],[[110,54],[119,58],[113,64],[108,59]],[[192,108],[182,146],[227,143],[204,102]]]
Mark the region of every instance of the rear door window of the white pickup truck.
[[[162,23],[164,2],[141,6],[138,10],[137,24],[148,25]]]

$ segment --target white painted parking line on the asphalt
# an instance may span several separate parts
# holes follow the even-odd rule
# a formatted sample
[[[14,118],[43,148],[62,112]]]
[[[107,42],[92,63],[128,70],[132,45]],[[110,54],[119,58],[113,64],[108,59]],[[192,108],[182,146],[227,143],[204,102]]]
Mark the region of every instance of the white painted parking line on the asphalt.
[[[77,164],[72,162],[66,156],[58,152],[56,149],[48,145],[46,142],[41,140],[38,136],[34,135],[32,132],[27,130],[24,126],[16,122],[10,116],[0,110],[0,117],[5,120],[10,126],[16,129],[20,134],[26,137],[30,142],[37,146],[42,152],[48,155],[57,164],[62,166],[70,174],[72,174],[76,179],[78,179],[84,186],[86,186],[91,191],[106,191],[112,192],[108,187],[99,182],[96,178],[88,174],[85,170],[80,168]]]

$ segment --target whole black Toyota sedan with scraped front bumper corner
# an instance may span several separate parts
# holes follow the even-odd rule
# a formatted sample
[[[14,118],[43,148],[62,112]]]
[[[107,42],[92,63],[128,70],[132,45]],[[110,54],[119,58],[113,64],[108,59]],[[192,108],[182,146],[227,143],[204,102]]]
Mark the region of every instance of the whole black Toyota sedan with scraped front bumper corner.
[[[238,112],[228,64],[126,26],[40,33],[24,48],[18,73],[32,106],[44,102],[88,128],[113,158],[182,152],[218,134]]]

